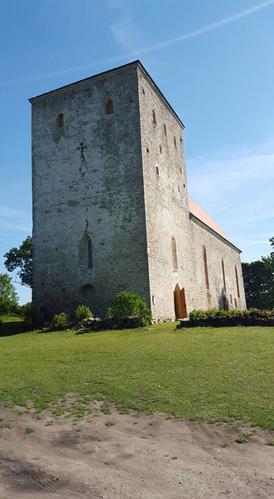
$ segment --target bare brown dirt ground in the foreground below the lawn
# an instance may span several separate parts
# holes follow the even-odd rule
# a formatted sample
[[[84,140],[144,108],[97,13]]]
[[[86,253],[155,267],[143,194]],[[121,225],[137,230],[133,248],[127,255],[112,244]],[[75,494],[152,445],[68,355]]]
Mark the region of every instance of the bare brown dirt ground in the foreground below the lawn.
[[[274,447],[265,445],[273,432],[256,428],[239,444],[236,435],[253,428],[121,415],[114,408],[105,415],[100,405],[92,404],[90,422],[75,423],[49,410],[36,420],[32,411],[18,415],[1,406],[0,498],[274,497]]]

